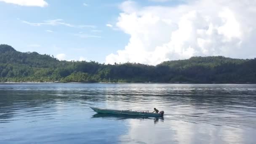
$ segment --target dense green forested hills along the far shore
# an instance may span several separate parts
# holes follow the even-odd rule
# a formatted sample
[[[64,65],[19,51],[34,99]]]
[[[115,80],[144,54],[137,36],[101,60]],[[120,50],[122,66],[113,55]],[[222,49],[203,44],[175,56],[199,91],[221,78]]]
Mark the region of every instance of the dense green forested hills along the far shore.
[[[256,83],[256,59],[192,57],[145,64],[59,61],[0,45],[0,82]]]

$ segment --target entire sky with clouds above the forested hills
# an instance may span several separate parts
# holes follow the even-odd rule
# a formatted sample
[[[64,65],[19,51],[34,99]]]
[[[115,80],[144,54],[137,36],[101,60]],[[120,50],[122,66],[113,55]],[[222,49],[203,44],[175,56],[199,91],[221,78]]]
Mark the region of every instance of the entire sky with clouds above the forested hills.
[[[110,64],[254,58],[255,5],[254,0],[0,0],[0,43]]]

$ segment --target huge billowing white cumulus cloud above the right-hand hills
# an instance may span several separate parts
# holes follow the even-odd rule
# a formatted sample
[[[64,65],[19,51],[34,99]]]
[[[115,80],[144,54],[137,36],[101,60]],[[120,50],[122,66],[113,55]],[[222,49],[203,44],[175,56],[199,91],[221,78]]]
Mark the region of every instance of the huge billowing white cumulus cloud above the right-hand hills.
[[[109,54],[106,63],[155,65],[191,56],[256,57],[255,0],[197,0],[172,7],[140,7],[128,1],[120,8],[116,27],[130,40]]]

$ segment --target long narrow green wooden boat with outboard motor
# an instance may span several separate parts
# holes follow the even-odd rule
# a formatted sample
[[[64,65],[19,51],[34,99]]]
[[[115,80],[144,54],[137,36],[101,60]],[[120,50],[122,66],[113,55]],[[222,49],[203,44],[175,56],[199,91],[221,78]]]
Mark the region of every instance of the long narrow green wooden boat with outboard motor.
[[[116,109],[100,109],[97,107],[90,107],[94,112],[101,114],[115,114],[115,115],[138,115],[144,117],[163,117],[164,112],[159,113],[145,112],[145,111],[133,111],[133,110],[116,110]]]

